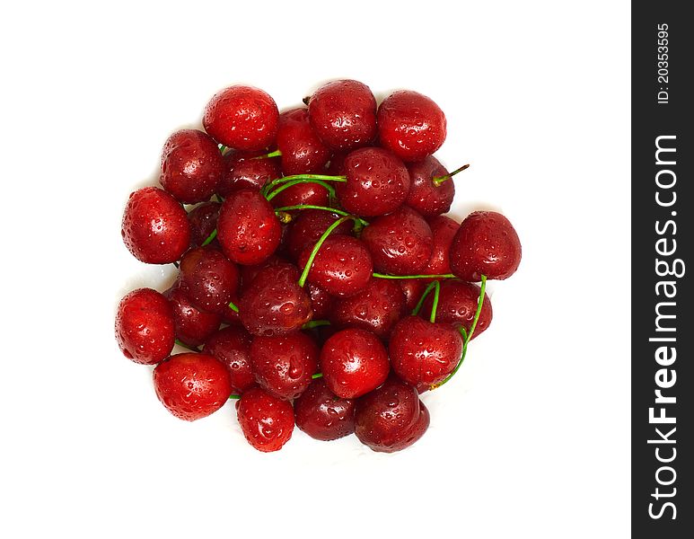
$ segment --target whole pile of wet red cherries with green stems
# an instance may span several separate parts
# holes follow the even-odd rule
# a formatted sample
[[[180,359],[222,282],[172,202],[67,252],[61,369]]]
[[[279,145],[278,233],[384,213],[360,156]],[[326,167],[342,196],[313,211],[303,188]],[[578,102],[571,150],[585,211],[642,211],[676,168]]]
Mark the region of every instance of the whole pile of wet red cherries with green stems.
[[[341,80],[304,102],[280,114],[268,93],[231,86],[207,103],[206,132],[169,137],[163,189],[130,195],[122,235],[137,260],[179,275],[163,294],[123,297],[116,337],[156,365],[156,394],[182,420],[232,398],[260,451],[294,424],[398,451],[428,428],[419,393],[488,328],[487,279],[514,273],[521,243],[496,212],[443,215],[467,167],[432,156],[446,119],[425,95],[377,105]],[[190,351],[171,355],[175,343]]]

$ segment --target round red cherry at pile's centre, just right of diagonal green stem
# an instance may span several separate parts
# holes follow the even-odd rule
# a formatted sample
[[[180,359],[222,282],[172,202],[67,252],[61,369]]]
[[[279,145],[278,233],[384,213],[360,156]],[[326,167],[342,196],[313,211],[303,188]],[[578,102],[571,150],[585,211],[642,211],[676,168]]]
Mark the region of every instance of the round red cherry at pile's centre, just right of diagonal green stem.
[[[308,263],[313,245],[304,248],[299,267]],[[318,285],[330,296],[348,297],[358,294],[369,284],[373,274],[371,254],[360,240],[348,235],[329,235],[318,250],[308,281]]]

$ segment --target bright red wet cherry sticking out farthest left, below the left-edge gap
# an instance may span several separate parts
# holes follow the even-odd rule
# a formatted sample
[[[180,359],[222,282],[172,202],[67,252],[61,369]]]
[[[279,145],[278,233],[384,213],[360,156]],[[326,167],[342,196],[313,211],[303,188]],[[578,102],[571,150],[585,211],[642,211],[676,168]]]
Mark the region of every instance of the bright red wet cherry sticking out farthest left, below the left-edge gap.
[[[120,300],[116,340],[123,355],[136,363],[154,365],[171,354],[174,340],[171,305],[156,290],[138,288]]]

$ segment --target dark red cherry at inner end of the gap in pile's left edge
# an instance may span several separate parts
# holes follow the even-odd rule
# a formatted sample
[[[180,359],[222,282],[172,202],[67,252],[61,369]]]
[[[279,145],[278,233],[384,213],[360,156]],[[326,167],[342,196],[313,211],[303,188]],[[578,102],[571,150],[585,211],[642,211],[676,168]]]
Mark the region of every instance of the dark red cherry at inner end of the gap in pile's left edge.
[[[239,270],[222,252],[197,247],[180,259],[179,281],[199,309],[224,314],[239,289]]]

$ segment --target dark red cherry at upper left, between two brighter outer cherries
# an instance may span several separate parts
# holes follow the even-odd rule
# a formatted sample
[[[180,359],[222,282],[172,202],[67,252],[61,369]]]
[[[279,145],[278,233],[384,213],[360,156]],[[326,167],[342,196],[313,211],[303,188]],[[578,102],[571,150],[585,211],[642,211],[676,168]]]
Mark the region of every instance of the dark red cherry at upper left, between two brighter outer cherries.
[[[204,202],[222,177],[222,155],[215,141],[198,129],[181,129],[162,151],[162,187],[183,204]]]

